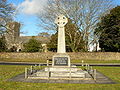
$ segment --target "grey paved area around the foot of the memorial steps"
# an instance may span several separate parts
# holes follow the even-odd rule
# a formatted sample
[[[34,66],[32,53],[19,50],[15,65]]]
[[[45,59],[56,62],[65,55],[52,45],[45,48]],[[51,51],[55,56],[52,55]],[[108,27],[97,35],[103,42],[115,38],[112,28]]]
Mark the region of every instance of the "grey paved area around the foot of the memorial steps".
[[[31,82],[31,83],[78,83],[78,84],[116,84],[107,76],[97,71],[96,80],[91,79],[80,79],[80,80],[63,80],[63,79],[25,79],[24,73],[19,74],[15,77],[8,79],[8,81],[14,82]]]

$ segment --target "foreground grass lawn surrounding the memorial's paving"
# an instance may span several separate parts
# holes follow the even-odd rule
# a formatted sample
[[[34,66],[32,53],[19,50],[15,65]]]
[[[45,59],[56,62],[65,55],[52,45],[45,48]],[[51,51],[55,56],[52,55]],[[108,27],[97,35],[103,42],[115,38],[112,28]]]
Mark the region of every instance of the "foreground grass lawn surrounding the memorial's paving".
[[[10,82],[7,79],[24,72],[25,67],[0,65],[0,90],[120,90],[120,67],[94,67],[117,84],[61,84]]]

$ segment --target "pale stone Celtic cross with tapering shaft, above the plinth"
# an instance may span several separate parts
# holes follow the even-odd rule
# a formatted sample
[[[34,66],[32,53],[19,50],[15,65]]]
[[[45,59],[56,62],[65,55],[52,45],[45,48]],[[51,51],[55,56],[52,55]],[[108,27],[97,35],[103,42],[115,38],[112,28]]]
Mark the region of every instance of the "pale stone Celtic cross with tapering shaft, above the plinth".
[[[66,53],[65,48],[65,25],[67,24],[68,19],[64,15],[59,15],[55,23],[58,25],[58,45],[57,53]]]

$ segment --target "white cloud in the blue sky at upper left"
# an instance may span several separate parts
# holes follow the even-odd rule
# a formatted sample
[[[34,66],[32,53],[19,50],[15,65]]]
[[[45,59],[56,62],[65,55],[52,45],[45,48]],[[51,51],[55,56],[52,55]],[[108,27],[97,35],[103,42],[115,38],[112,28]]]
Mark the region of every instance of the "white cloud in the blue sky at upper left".
[[[44,12],[44,6],[48,0],[25,0],[18,6],[18,10],[22,13],[33,15]]]

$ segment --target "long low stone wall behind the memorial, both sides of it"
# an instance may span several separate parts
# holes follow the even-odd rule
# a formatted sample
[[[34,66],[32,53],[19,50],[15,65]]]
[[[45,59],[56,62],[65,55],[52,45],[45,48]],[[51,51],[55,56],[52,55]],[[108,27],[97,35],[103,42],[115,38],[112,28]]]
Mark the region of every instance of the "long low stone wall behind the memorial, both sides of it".
[[[47,59],[55,53],[0,53],[0,58]],[[113,52],[78,52],[68,53],[72,60],[120,60],[120,53]]]

